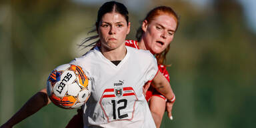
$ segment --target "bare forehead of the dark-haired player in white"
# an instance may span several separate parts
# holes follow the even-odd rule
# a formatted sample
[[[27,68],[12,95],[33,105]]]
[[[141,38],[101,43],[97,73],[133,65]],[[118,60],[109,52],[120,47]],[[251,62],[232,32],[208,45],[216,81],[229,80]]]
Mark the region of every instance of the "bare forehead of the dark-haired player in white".
[[[102,22],[108,22],[108,23],[115,23],[115,22],[125,22],[125,17],[121,15],[120,13],[105,13],[103,17],[101,18]]]

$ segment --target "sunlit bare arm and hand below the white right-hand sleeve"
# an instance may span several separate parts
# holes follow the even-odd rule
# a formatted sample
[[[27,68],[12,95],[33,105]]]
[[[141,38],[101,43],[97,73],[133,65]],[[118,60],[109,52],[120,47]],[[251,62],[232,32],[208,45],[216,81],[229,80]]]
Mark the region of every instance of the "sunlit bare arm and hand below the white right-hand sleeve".
[[[153,87],[155,87],[155,89],[157,89],[157,91],[159,91],[159,93],[164,95],[167,99],[166,109],[168,117],[172,119],[171,110],[175,101],[175,94],[171,89],[169,81],[161,73],[158,72],[157,75],[155,75],[151,85],[153,85]]]

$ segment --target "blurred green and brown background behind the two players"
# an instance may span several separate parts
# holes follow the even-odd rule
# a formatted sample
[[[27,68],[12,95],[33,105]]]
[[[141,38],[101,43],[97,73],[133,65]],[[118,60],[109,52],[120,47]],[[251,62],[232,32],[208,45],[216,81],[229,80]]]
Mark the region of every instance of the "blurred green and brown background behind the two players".
[[[253,0],[252,0],[253,1]],[[37,91],[52,69],[85,53],[77,44],[105,1],[0,1],[0,125]],[[164,127],[256,127],[256,9],[249,0],[127,0],[131,33],[157,5],[173,7],[180,26],[167,64],[177,100]],[[247,4],[245,4],[247,2]],[[65,127],[76,110],[53,104],[15,127]]]

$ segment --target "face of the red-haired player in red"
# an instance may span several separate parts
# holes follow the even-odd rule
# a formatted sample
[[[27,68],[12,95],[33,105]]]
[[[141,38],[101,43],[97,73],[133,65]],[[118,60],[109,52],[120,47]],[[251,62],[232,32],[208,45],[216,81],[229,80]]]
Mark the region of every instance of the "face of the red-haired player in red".
[[[176,27],[176,19],[171,15],[159,15],[151,23],[143,21],[144,35],[142,39],[146,49],[153,54],[164,51],[173,40]]]

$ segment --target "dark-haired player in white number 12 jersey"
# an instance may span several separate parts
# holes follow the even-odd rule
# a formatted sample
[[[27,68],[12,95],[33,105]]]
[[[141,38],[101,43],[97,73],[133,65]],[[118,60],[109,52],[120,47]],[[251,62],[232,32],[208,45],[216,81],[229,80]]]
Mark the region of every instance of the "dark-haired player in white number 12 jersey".
[[[92,95],[87,101],[87,109],[83,111],[86,115],[84,116],[85,125],[155,127],[152,125],[153,119],[151,119],[148,106],[145,104],[147,101],[142,93],[145,82],[153,79],[154,76],[152,81],[154,87],[165,95],[168,101],[173,99],[169,82],[157,72],[157,63],[153,59],[154,57],[147,51],[125,47],[125,37],[129,33],[130,26],[127,14],[128,12],[122,4],[113,1],[105,3],[99,10],[96,23],[101,46],[95,47],[85,56],[71,62],[85,67],[95,83]],[[109,71],[109,69],[111,70]],[[115,87],[115,83],[120,81],[121,86]],[[116,91],[122,91],[123,95],[114,93]],[[35,99],[31,98],[30,101]],[[45,97],[45,99],[47,98]],[[47,104],[48,101],[45,101]],[[23,114],[27,114],[24,107],[29,105],[31,104],[26,103],[15,114],[16,116],[5,123],[5,126],[12,126],[23,120],[25,118]],[[29,114],[33,114],[33,112]],[[144,119],[144,116],[147,119]]]

